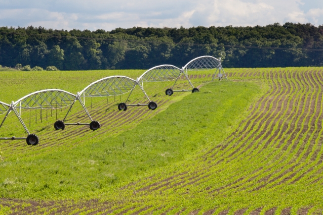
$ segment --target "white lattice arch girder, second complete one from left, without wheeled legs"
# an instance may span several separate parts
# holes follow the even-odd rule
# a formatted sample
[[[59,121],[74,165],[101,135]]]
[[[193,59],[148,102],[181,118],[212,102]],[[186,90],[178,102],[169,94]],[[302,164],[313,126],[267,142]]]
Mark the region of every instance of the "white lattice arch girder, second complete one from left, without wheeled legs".
[[[137,82],[126,76],[110,76],[91,83],[79,92],[85,97],[101,97],[125,94],[136,87]]]

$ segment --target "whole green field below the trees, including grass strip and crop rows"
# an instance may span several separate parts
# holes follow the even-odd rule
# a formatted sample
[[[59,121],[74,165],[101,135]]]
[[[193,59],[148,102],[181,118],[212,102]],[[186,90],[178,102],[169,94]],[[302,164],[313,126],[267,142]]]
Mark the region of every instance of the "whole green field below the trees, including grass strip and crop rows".
[[[0,101],[143,72],[0,72]],[[118,111],[128,94],[88,99],[96,131],[55,131],[66,108],[23,111],[40,142],[0,140],[0,214],[322,214],[323,68],[225,72],[229,80],[213,82],[213,71],[191,72],[198,93],[144,83],[155,111]],[[130,103],[143,102],[136,89]],[[87,121],[80,105],[67,118]],[[13,114],[5,136],[26,136]]]

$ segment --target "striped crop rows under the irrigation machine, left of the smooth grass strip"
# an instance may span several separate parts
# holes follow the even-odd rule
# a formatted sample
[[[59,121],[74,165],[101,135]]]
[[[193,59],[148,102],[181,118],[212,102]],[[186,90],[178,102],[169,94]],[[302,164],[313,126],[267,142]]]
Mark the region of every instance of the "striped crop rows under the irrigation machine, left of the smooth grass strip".
[[[203,82],[210,81],[210,77],[211,74],[190,76],[196,84],[202,85],[204,84]],[[164,85],[167,85],[167,83]],[[183,87],[188,87],[188,83],[184,80],[184,77],[181,78],[177,85],[177,88]],[[56,119],[62,119],[66,114],[67,109],[47,112],[43,111],[42,117],[39,110],[32,111],[31,114],[28,110],[22,113],[22,118],[28,126],[29,122],[31,122],[31,132],[37,133],[37,135],[42,137],[41,144],[34,147],[26,147],[27,145],[24,140],[8,140],[1,142],[1,148],[6,159],[16,159],[17,157],[21,158],[22,156],[32,156],[35,153],[48,153],[53,150],[59,151],[62,148],[75,147],[75,145],[79,145],[80,143],[88,142],[89,140],[100,140],[106,136],[115,136],[129,128],[135,127],[142,120],[155,116],[159,112],[165,110],[171,103],[175,102],[173,98],[184,95],[187,95],[187,93],[178,93],[175,97],[174,95],[166,96],[165,93],[154,95],[153,99],[158,103],[158,109],[154,112],[148,111],[145,107],[134,107],[129,108],[126,112],[120,112],[116,108],[119,101],[118,99],[121,99],[118,96],[115,99],[110,98],[109,100],[98,99],[97,101],[93,101],[93,105],[88,101],[86,105],[88,106],[90,114],[93,119],[98,120],[102,125],[102,127],[95,132],[90,131],[85,126],[67,126],[63,131],[55,131],[52,122]],[[145,98],[141,94],[136,95],[136,92],[134,92],[131,102],[144,103]],[[80,105],[75,105],[71,114],[68,116],[66,123],[86,122],[87,120],[87,116],[85,115],[82,107]],[[13,130],[17,130],[17,128],[15,128],[15,121],[12,120],[9,122],[8,131],[12,132]],[[18,133],[23,133],[20,127],[18,130],[19,129],[20,132]],[[9,133],[7,135],[13,134],[14,133]]]

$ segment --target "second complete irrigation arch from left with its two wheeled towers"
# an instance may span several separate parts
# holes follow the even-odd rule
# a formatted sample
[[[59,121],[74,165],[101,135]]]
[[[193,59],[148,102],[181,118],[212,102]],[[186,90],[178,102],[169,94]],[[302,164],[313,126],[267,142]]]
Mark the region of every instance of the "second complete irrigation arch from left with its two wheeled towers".
[[[136,85],[139,85],[140,89],[148,99],[148,104],[127,104],[127,101],[132,93],[132,91],[135,89]],[[89,125],[91,130],[97,130],[100,128],[100,123],[98,121],[92,120],[92,117],[90,116],[86,106],[85,106],[85,98],[86,97],[105,97],[105,96],[116,96],[116,95],[122,95],[127,92],[129,93],[129,96],[127,100],[123,103],[119,103],[118,109],[119,111],[126,111],[128,106],[142,106],[147,105],[150,110],[155,110],[157,108],[157,104],[154,101],[151,101],[144,91],[143,87],[139,84],[138,79],[134,80],[132,78],[129,78],[127,76],[109,76],[106,78],[102,78],[100,80],[97,80],[90,85],[88,85],[86,88],[84,88],[82,91],[78,92],[75,96],[74,101],[70,105],[70,108],[65,115],[63,120],[58,120],[54,124],[54,128],[56,130],[64,130],[65,125]],[[74,103],[76,101],[79,101],[80,104],[83,106],[84,111],[88,115],[88,117],[91,120],[91,123],[64,123],[64,121],[67,118],[67,115],[71,111]]]

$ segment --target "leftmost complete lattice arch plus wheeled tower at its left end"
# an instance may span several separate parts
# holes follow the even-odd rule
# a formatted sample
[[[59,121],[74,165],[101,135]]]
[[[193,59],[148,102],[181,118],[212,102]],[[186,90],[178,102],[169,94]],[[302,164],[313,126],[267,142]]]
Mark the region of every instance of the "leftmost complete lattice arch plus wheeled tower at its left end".
[[[40,109],[41,112],[43,109],[51,109],[57,110],[61,108],[65,108],[72,104],[75,99],[75,95],[67,92],[65,90],[60,89],[46,89],[46,90],[39,90],[32,92],[16,102],[12,101],[11,104],[6,104],[4,102],[0,102],[0,114],[6,114],[5,118],[3,119],[0,128],[5,123],[8,115],[10,112],[14,112],[17,118],[19,119],[21,125],[24,127],[25,131],[27,132],[27,137],[2,137],[2,140],[22,140],[25,139],[28,145],[37,145],[39,143],[39,138],[35,134],[31,134],[28,131],[27,126],[23,122],[21,118],[21,110],[28,109],[28,110],[37,110]],[[19,110],[19,111],[18,111]],[[41,115],[42,116],[42,115]]]

